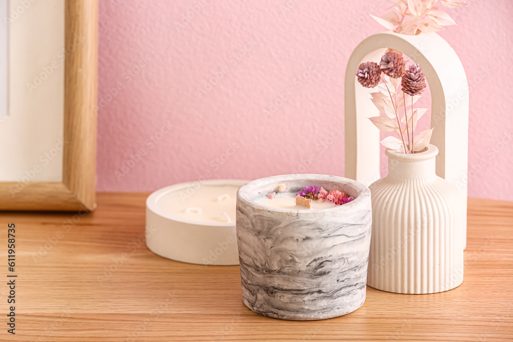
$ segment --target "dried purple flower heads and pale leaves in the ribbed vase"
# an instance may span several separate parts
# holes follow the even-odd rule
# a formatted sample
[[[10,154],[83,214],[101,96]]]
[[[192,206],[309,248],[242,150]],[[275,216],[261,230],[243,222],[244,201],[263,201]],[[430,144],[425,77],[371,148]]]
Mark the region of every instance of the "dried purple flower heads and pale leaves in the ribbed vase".
[[[387,136],[380,142],[381,145],[402,153],[425,149],[433,129],[413,135],[417,120],[427,111],[426,108],[413,109],[413,104],[426,88],[426,77],[419,65],[412,63],[406,66],[403,54],[390,50],[381,57],[380,64],[360,64],[356,75],[362,86],[378,88],[377,92],[370,93],[370,99],[385,116],[369,117],[371,122],[380,131],[395,132],[401,138]],[[410,110],[407,110],[408,106]],[[401,108],[404,108],[404,115]]]

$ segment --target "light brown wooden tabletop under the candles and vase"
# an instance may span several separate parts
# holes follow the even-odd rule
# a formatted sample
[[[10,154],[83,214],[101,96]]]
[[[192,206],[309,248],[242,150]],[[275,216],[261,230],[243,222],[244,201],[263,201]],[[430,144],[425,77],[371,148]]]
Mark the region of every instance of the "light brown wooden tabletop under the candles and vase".
[[[199,266],[145,245],[146,193],[99,193],[94,213],[0,213],[0,340],[513,340],[513,203],[469,199],[463,284],[404,295],[367,287],[348,315],[286,321],[250,311],[238,266]],[[7,265],[14,223],[15,271]],[[15,335],[7,332],[7,274]]]

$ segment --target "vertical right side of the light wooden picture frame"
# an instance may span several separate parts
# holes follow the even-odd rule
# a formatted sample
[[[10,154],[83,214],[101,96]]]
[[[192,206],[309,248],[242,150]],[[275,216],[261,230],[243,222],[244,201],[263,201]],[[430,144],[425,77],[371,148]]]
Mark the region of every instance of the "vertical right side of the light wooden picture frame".
[[[98,2],[66,1],[63,183],[89,210],[95,207]]]

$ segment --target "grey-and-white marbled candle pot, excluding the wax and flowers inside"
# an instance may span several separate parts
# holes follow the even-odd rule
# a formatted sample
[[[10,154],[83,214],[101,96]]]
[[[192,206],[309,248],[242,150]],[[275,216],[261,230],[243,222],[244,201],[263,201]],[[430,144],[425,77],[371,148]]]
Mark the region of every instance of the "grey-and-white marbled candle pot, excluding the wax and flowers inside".
[[[254,200],[284,183],[356,197],[329,209],[278,209]],[[254,180],[237,192],[242,298],[256,313],[313,320],[345,315],[365,301],[371,235],[370,191],[354,180],[295,174]]]

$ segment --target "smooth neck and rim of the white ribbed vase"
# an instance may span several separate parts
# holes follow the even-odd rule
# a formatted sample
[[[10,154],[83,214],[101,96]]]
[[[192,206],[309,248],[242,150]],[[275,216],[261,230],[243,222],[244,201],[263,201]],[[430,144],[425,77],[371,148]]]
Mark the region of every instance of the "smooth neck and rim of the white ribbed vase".
[[[388,150],[388,176],[396,179],[419,179],[436,177],[438,148],[429,145],[420,153],[404,154]]]

